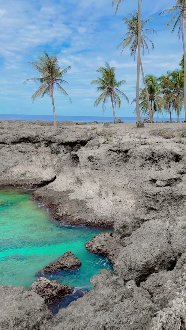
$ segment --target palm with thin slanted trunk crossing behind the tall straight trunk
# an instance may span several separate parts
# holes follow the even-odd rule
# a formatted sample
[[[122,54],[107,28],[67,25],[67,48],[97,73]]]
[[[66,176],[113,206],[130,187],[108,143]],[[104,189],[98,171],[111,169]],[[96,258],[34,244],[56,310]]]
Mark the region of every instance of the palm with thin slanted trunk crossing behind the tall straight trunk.
[[[129,16],[131,16],[131,19],[128,17],[124,17],[123,20],[125,22],[125,24],[127,24],[128,27],[128,31],[123,37],[122,37],[122,41],[121,43],[118,45],[118,47],[120,47],[121,45],[123,46],[123,50],[129,46],[131,44],[130,47],[130,55],[134,56],[134,60],[135,60],[135,56],[136,56],[136,50],[137,50],[137,46],[138,46],[138,12],[134,11],[134,14],[129,14]],[[143,29],[144,26],[153,18],[148,18],[145,21],[143,21],[141,19],[141,48],[143,49],[143,55],[145,53],[145,49],[148,50],[149,52],[149,46],[148,43],[149,42],[151,44],[152,49],[154,49],[154,44],[152,43],[152,41],[146,36],[147,33],[150,34],[157,34],[156,31],[154,29]],[[123,52],[122,50],[122,52]],[[141,72],[142,72],[142,76],[143,76],[143,82],[145,85],[145,90],[146,90],[146,94],[147,94],[147,102],[148,102],[148,108],[149,108],[149,114],[150,114],[150,122],[153,122],[153,114],[151,111],[151,106],[150,106],[150,101],[149,101],[149,94],[148,94],[148,90],[147,90],[147,84],[145,81],[145,75],[144,75],[144,71],[143,71],[143,66],[142,66],[142,61],[140,58],[140,66],[141,66]]]

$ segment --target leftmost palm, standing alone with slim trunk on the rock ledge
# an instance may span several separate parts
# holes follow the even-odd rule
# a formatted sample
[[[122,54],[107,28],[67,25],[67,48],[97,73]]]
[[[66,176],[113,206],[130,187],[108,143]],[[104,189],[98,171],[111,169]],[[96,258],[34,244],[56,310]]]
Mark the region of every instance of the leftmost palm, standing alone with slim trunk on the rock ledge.
[[[44,56],[39,56],[37,62],[28,62],[34,69],[37,70],[40,77],[39,78],[30,78],[25,80],[24,83],[29,81],[39,82],[41,85],[38,90],[32,95],[33,102],[39,96],[44,97],[46,94],[52,98],[53,112],[54,112],[54,125],[56,125],[56,110],[54,104],[54,86],[57,87],[58,91],[62,95],[67,95],[67,92],[61,87],[61,83],[68,83],[63,80],[63,75],[68,73],[71,69],[71,66],[68,66],[66,69],[61,70],[58,65],[58,60],[56,55],[50,56],[46,51],[43,52]],[[69,97],[69,96],[68,96]],[[69,97],[69,101],[71,99]]]

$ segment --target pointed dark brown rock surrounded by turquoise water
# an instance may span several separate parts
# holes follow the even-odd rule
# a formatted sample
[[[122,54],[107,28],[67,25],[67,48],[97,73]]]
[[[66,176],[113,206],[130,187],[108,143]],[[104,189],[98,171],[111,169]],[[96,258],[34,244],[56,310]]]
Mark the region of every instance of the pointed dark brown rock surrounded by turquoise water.
[[[55,261],[50,262],[47,266],[40,269],[36,275],[39,274],[48,274],[48,273],[56,273],[60,270],[69,270],[69,269],[76,269],[81,266],[81,261],[75,257],[75,255],[67,251],[63,255],[61,255]]]

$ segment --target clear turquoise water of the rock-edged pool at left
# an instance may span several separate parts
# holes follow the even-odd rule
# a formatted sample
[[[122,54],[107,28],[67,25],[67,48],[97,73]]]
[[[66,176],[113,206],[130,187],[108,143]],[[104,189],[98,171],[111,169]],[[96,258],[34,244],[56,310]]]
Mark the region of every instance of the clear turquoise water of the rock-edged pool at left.
[[[28,289],[38,270],[70,250],[82,266],[47,277],[83,287],[86,292],[91,288],[90,278],[94,274],[102,268],[112,269],[107,259],[90,254],[85,248],[87,241],[104,231],[109,230],[59,225],[30,194],[0,189],[0,284]]]

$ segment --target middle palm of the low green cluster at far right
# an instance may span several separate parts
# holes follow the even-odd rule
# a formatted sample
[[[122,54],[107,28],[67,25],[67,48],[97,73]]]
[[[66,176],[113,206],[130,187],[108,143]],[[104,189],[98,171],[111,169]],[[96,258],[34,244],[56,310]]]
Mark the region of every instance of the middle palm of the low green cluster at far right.
[[[170,89],[170,85],[169,85],[170,78],[171,78],[171,72],[167,71],[167,74],[162,75],[159,78],[159,81],[160,81],[160,85],[162,88],[162,94],[164,95],[164,100],[165,100],[164,110],[168,111],[169,116],[170,116],[170,122],[172,122],[172,114],[171,114],[172,103],[169,101],[169,98],[167,97],[172,92],[172,90]]]

